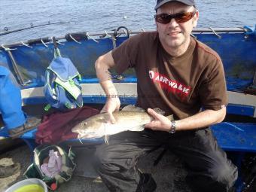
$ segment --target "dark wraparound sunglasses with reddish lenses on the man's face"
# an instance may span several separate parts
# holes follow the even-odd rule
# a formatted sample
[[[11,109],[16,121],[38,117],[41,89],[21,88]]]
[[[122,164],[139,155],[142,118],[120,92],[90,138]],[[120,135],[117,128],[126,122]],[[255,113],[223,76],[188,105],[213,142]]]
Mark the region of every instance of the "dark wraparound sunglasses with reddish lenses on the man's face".
[[[177,23],[184,23],[190,20],[194,15],[197,13],[197,11],[193,12],[185,12],[185,13],[179,13],[179,14],[156,14],[154,16],[157,23],[167,24],[170,23],[172,19],[175,19]]]

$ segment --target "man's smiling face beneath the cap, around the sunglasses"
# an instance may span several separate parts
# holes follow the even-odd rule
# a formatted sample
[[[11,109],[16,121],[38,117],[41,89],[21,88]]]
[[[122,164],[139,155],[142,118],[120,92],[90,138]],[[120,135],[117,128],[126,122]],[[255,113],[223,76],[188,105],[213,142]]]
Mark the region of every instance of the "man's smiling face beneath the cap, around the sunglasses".
[[[193,6],[187,6],[180,2],[169,2],[157,9],[157,14],[178,14],[184,12],[193,12]],[[157,31],[163,47],[169,49],[179,49],[190,42],[190,33],[194,26],[197,26],[198,12],[184,23],[177,23],[172,19],[169,23],[157,23]]]

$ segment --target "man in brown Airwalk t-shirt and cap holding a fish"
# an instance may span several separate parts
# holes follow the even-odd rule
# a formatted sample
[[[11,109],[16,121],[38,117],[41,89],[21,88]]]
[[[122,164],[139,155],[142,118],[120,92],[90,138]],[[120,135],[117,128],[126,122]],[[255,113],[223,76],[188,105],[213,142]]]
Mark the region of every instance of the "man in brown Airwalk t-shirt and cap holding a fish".
[[[133,36],[96,61],[96,74],[108,96],[102,112],[120,108],[108,74],[133,67],[137,75],[136,105],[154,117],[143,132],[124,132],[100,145],[95,167],[111,191],[154,191],[149,174],[139,172],[138,158],[165,145],[184,161],[187,183],[194,191],[228,191],[237,178],[236,166],[218,148],[209,126],[224,120],[227,91],[218,53],[190,38],[199,13],[194,0],[158,0],[157,32]],[[170,121],[151,108],[161,108]]]

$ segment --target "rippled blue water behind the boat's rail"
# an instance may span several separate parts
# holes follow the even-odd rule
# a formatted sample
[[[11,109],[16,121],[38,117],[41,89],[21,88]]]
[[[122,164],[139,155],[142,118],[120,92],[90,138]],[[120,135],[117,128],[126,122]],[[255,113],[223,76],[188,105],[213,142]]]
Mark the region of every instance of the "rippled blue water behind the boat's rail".
[[[0,44],[31,38],[62,36],[68,32],[104,32],[126,26],[128,29],[155,29],[155,0],[0,0],[0,32],[50,22],[42,26],[0,36]],[[256,0],[197,0],[198,27],[242,27],[256,24]]]

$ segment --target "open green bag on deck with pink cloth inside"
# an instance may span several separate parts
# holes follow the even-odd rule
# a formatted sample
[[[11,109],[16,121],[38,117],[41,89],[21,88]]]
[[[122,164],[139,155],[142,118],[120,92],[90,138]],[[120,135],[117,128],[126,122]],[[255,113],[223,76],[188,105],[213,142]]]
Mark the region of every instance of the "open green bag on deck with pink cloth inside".
[[[62,157],[61,171],[53,178],[44,175],[44,173],[41,172],[41,165],[43,164],[44,159],[49,157],[50,150],[58,151]],[[59,184],[69,181],[72,178],[72,173],[76,167],[76,164],[73,161],[74,158],[75,154],[72,152],[71,148],[69,148],[69,151],[66,152],[57,145],[39,145],[34,150],[33,163],[29,166],[28,169],[26,169],[26,172],[24,172],[23,175],[26,178],[39,178],[44,181],[48,187],[55,190],[56,187],[59,187]],[[52,184],[54,184],[56,187],[53,188]]]

